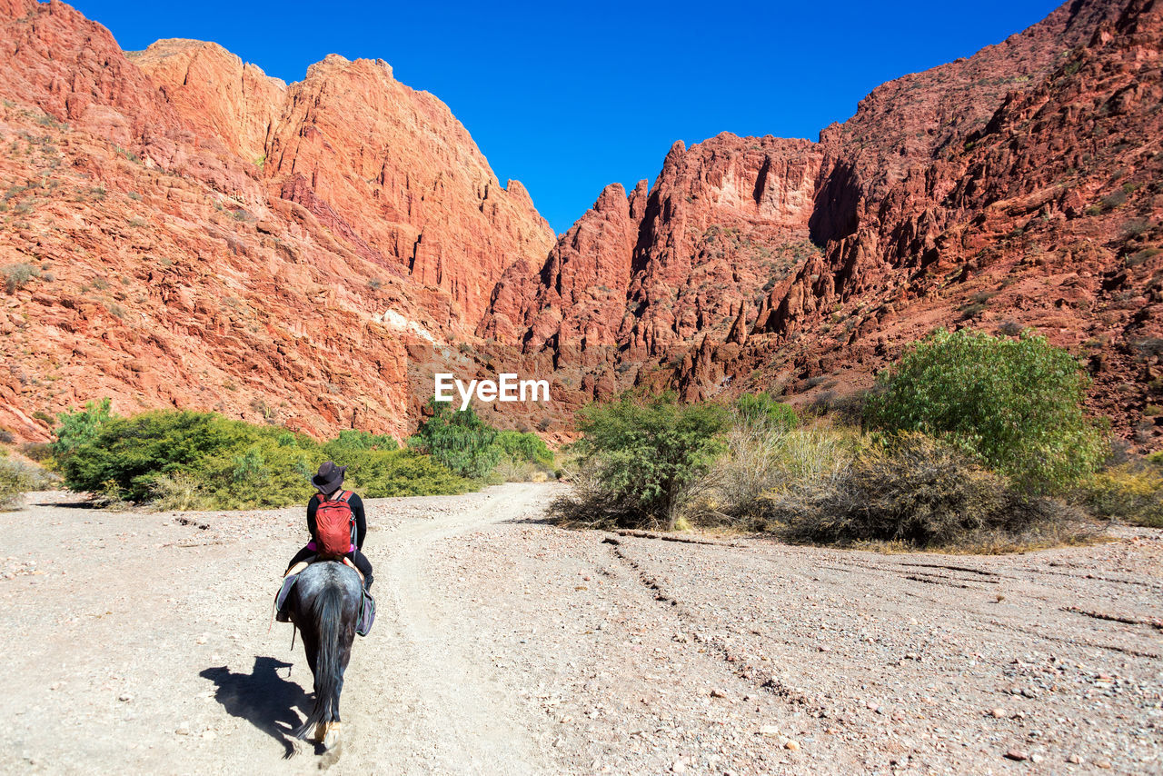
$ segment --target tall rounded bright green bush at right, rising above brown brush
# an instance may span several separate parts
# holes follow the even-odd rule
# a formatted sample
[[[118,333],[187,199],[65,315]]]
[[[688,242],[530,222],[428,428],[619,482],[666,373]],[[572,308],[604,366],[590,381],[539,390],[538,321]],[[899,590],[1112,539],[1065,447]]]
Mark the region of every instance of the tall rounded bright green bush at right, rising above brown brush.
[[[1087,385],[1073,356],[1029,332],[940,330],[878,376],[864,418],[943,439],[1034,492],[1061,491],[1106,451],[1083,406]]]

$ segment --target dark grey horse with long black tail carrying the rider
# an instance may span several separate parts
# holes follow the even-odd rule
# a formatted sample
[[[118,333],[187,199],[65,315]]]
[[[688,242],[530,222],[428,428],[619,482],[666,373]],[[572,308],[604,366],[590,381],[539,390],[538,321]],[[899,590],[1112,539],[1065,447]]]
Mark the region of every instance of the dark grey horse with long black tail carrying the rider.
[[[290,595],[291,620],[302,632],[302,648],[315,677],[315,706],[294,731],[298,739],[330,749],[340,742],[340,693],[351,660],[363,583],[358,572],[337,561],[312,563],[299,574]]]

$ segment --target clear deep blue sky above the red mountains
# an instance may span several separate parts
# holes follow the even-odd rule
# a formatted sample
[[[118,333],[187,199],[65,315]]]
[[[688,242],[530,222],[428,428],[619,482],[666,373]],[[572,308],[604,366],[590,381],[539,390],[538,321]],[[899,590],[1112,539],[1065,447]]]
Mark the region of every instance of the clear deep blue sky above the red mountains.
[[[676,140],[816,140],[876,85],[997,43],[1056,0],[269,2],[76,0],[126,50],[215,41],[294,81],[383,58],[451,107],[564,232],[602,186],[654,181]]]

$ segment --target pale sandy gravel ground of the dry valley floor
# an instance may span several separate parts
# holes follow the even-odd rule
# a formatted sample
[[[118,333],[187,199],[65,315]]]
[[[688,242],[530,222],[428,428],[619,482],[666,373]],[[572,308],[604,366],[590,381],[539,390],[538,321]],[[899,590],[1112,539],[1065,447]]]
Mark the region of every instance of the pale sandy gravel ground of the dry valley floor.
[[[1008,556],[540,522],[556,485],[369,499],[343,746],[270,601],[301,511],[0,514],[0,770],[1160,774],[1163,532]]]

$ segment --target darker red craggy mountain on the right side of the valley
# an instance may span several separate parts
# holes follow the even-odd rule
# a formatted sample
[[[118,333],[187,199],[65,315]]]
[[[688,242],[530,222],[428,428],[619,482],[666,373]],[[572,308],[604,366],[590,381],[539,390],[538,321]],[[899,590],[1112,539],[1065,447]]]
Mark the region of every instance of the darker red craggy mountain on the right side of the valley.
[[[478,334],[549,351],[578,403],[648,384],[820,406],[937,326],[1033,327],[1087,361],[1120,433],[1157,447],[1161,14],[1066,3],[878,87],[818,143],[678,143],[540,272],[512,266]]]

